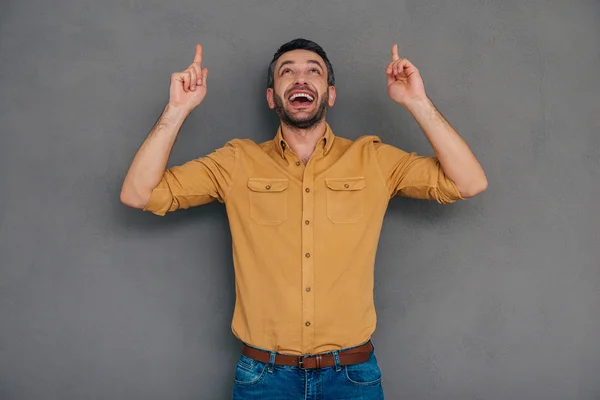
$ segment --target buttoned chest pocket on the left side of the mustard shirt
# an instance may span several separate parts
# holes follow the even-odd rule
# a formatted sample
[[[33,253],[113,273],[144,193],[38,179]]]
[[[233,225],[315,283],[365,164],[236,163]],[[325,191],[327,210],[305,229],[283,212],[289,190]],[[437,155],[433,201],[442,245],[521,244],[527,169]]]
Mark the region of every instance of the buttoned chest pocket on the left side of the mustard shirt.
[[[259,225],[279,225],[287,219],[288,179],[248,179],[250,218]]]

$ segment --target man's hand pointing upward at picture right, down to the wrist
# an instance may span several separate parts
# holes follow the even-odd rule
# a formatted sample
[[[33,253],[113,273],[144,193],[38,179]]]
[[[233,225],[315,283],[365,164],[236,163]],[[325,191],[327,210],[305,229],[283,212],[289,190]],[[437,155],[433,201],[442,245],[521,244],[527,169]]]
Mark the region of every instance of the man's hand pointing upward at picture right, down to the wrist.
[[[392,46],[392,62],[385,72],[388,77],[388,93],[396,103],[407,106],[411,101],[427,98],[419,70],[406,58],[398,56],[397,44]]]

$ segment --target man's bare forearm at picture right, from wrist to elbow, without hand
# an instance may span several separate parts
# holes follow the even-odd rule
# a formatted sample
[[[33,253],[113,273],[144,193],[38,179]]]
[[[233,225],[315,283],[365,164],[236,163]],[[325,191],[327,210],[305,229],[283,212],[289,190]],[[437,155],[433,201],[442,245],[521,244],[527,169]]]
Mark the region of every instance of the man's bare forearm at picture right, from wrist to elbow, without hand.
[[[465,198],[487,188],[487,178],[475,155],[429,98],[406,105],[431,143],[444,173]]]

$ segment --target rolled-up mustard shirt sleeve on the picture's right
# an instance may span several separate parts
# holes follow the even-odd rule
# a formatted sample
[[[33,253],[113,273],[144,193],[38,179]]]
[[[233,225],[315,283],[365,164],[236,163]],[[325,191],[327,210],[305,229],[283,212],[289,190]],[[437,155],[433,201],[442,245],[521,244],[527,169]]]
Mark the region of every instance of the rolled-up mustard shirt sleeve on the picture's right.
[[[437,157],[408,153],[381,141],[374,145],[390,198],[404,196],[440,204],[464,200],[455,183],[444,174]]]

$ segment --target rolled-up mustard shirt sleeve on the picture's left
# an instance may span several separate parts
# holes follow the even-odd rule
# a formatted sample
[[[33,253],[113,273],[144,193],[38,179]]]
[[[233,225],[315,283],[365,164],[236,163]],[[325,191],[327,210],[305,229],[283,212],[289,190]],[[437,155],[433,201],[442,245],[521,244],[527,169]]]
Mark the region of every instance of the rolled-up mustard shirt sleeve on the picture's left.
[[[215,200],[224,203],[236,164],[237,147],[230,141],[204,157],[168,168],[143,210],[164,216]]]

